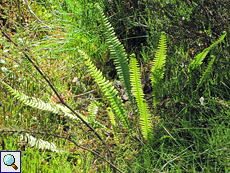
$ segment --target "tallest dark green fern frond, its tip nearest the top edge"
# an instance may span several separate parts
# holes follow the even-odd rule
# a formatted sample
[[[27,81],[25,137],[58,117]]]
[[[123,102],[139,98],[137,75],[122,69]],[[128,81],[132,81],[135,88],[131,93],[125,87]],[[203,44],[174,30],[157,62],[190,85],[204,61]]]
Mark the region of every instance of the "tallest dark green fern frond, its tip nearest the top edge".
[[[104,16],[103,10],[99,5],[99,9],[102,24],[104,27],[104,33],[106,36],[106,43],[109,45],[109,50],[111,52],[111,57],[114,59],[114,63],[117,69],[119,79],[122,83],[122,87],[125,92],[128,94],[128,98],[131,101],[131,104],[134,105],[133,95],[131,93],[131,84],[130,84],[130,72],[128,66],[128,59],[125,53],[124,46],[115,36],[115,32],[111,24],[108,22],[108,19]]]

